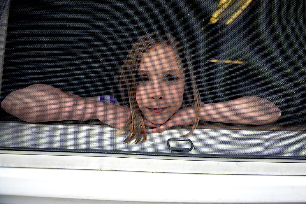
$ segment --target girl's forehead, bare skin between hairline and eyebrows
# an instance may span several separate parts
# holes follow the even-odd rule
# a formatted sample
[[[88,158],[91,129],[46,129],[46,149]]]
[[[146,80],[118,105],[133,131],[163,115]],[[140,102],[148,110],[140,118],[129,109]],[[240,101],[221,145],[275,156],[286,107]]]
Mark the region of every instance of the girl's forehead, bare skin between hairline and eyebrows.
[[[148,49],[140,60],[139,71],[183,72],[183,66],[176,51],[167,45],[158,45]]]

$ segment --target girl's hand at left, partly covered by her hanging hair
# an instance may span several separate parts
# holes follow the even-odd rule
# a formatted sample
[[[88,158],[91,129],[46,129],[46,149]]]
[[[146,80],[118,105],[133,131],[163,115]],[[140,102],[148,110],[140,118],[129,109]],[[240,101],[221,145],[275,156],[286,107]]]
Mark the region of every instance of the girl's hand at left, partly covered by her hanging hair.
[[[131,116],[131,109],[129,107],[117,106],[110,103],[103,104],[103,107],[105,108],[98,110],[97,119],[114,128],[122,128]],[[152,128],[159,127],[159,125],[153,124],[145,119],[144,125]],[[132,124],[130,128],[132,128]]]

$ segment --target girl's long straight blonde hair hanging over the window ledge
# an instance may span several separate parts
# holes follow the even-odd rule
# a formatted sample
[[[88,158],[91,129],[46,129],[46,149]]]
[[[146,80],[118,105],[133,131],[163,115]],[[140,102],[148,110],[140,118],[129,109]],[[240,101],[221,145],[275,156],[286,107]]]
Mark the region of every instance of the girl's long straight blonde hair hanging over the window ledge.
[[[131,116],[129,120],[125,123],[125,125],[122,128],[120,128],[117,131],[118,134],[121,134],[123,131],[129,128],[130,124],[132,124],[131,132],[129,133],[128,137],[124,140],[125,143],[129,143],[135,137],[136,139],[134,143],[138,143],[140,142],[140,140],[144,142],[147,139],[147,133],[144,126],[143,116],[136,102],[136,96],[135,96],[136,87],[137,87],[138,68],[141,56],[148,49],[161,44],[170,46],[175,50],[177,56],[181,60],[181,64],[185,72],[184,97],[181,109],[187,106],[195,107],[196,119],[194,121],[192,129],[187,134],[182,135],[182,137],[190,135],[196,129],[199,123],[200,119],[200,93],[198,89],[199,85],[196,82],[196,79],[194,77],[194,70],[188,61],[185,50],[183,49],[181,44],[177,41],[177,39],[175,39],[172,35],[162,34],[160,32],[150,32],[136,40],[114,80],[115,83],[114,87],[119,86],[120,90],[120,95],[114,92],[116,98],[119,99],[121,105],[130,106],[131,108]]]

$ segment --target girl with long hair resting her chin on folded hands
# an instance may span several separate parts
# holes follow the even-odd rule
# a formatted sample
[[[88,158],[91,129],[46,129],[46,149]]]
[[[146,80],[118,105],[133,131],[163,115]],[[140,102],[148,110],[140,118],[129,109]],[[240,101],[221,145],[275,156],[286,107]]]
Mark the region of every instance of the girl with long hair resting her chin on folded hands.
[[[28,122],[88,120],[131,130],[125,143],[144,142],[147,127],[153,133],[199,120],[240,123],[273,123],[281,116],[274,103],[255,96],[201,104],[194,71],[181,44],[171,35],[151,32],[132,46],[114,81],[120,105],[101,97],[82,98],[46,84],[11,92],[1,103],[8,113]]]

